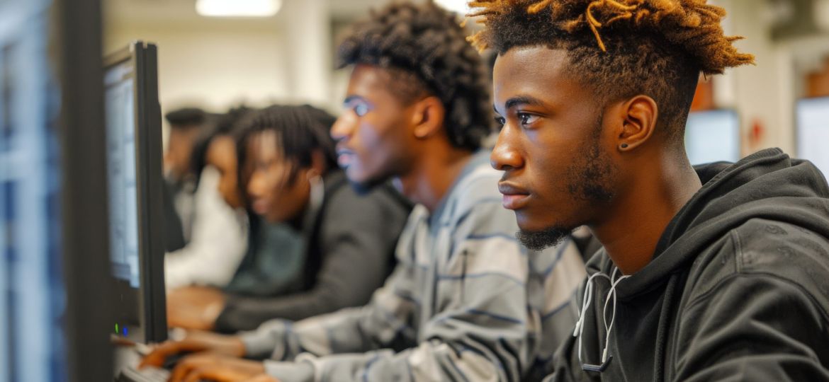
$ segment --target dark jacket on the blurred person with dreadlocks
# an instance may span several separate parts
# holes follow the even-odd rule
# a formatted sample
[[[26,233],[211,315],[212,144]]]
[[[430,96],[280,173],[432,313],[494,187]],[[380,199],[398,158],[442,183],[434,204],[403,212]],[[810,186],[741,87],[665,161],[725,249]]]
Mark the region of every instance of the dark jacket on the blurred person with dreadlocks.
[[[303,220],[302,275],[276,296],[227,296],[219,332],[253,330],[273,318],[300,320],[368,303],[394,267],[410,203],[390,186],[356,193],[342,171],[325,176],[322,206]],[[255,263],[253,263],[255,265]]]

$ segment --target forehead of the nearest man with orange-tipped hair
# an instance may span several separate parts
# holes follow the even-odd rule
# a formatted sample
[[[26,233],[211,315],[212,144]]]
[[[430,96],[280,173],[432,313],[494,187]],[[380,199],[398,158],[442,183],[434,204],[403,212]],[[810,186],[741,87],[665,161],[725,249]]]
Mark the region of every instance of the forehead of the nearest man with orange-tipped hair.
[[[545,103],[578,101],[589,96],[572,77],[565,50],[545,46],[516,47],[498,55],[492,70],[495,106],[502,110],[509,98],[525,96]]]

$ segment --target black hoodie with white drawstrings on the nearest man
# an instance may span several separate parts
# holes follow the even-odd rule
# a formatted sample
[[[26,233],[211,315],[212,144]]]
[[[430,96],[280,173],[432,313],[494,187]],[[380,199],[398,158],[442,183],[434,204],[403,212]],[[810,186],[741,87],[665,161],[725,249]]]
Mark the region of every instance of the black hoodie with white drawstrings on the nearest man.
[[[702,189],[670,222],[653,260],[615,288],[607,368],[582,370],[571,337],[547,380],[829,380],[826,179],[778,149],[696,170]],[[588,275],[614,270],[604,249],[588,263]],[[581,357],[597,365],[613,296],[605,311],[610,283],[593,284]]]

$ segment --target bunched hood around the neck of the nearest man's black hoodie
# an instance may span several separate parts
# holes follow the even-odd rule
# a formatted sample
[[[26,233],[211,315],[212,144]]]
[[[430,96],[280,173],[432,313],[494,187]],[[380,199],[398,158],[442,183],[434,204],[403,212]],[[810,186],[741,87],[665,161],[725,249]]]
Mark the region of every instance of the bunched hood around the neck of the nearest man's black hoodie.
[[[791,222],[829,235],[829,186],[805,160],[792,160],[780,149],[768,149],[734,164],[718,162],[695,170],[702,188],[668,224],[653,260],[618,286],[619,298],[657,288],[725,232],[754,217]],[[602,269],[612,266],[607,260]]]

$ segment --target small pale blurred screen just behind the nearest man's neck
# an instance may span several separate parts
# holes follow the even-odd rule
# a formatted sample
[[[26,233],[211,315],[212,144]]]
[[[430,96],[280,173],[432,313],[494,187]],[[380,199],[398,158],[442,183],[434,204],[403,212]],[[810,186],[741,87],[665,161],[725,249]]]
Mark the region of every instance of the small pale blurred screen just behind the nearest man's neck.
[[[685,149],[691,165],[739,160],[737,112],[718,109],[689,113],[685,127]]]

